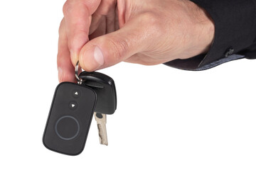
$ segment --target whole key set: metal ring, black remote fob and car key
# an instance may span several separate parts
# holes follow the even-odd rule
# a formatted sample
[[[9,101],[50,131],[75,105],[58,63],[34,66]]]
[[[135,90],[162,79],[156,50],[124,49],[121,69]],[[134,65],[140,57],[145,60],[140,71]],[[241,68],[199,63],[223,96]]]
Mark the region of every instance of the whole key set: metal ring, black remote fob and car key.
[[[55,89],[43,133],[46,148],[68,155],[78,155],[85,147],[92,116],[95,115],[100,143],[108,145],[106,114],[117,108],[114,80],[99,72],[81,72],[78,83],[63,82]]]

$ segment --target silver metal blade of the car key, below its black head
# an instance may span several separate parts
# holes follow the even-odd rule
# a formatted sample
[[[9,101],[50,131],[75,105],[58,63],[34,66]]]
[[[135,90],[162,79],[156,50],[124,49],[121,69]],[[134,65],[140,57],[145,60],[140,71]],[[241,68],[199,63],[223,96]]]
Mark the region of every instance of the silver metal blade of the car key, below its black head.
[[[107,128],[106,128],[106,123],[107,123],[107,115],[102,114],[102,113],[94,113],[95,115],[95,120],[97,121],[97,128],[99,132],[99,137],[100,137],[100,144],[101,145],[108,145],[107,142]]]

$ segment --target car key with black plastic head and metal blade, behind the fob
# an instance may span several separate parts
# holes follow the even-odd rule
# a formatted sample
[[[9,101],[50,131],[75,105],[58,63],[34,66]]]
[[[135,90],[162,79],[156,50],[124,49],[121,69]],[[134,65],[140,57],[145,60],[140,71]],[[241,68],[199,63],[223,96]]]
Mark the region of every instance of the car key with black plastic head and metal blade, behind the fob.
[[[90,86],[97,94],[95,120],[97,121],[100,144],[108,145],[106,114],[113,114],[117,108],[114,80],[99,72],[82,72],[79,75],[79,79],[82,79],[82,84]]]

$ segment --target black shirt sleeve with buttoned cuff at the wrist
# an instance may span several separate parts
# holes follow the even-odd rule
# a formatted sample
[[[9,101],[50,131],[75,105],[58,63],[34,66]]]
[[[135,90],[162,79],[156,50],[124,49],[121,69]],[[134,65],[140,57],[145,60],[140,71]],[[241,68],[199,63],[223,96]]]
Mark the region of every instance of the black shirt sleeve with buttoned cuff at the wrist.
[[[256,59],[256,0],[191,0],[215,23],[213,44],[206,55],[173,60],[178,69],[203,70],[240,58]]]

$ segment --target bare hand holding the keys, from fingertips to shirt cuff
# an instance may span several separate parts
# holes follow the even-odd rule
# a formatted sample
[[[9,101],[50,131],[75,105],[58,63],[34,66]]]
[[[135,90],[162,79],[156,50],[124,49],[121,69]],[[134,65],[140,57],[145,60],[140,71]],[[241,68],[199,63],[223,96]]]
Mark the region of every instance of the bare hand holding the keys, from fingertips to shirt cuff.
[[[154,65],[206,53],[214,23],[188,0],[68,0],[58,40],[59,81],[119,62]]]

